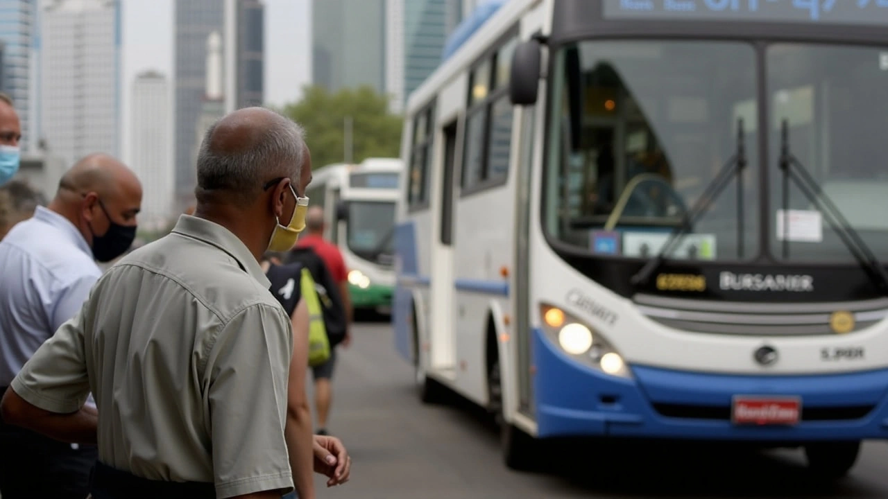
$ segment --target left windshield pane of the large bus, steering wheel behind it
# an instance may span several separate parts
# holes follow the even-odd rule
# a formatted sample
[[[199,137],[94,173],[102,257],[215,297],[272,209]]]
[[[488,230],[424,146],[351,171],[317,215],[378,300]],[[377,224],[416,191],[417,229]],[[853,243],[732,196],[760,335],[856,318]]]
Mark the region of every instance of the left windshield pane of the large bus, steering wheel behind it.
[[[591,252],[597,237],[615,234],[608,256],[652,256],[736,153],[736,109],[756,98],[755,51],[710,41],[583,42],[555,57],[545,229]],[[752,113],[743,143],[755,165]],[[670,257],[752,256],[757,169],[742,182],[743,213],[731,184]]]

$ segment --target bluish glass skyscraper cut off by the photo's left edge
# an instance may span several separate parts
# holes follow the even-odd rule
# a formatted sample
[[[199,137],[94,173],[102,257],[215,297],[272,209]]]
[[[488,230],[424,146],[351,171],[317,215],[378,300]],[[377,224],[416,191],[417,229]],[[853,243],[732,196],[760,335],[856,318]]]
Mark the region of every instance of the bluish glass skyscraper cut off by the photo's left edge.
[[[36,131],[31,123],[35,2],[0,0],[0,42],[3,44],[0,91],[6,92],[15,103],[21,121],[21,148],[26,151],[37,143]]]

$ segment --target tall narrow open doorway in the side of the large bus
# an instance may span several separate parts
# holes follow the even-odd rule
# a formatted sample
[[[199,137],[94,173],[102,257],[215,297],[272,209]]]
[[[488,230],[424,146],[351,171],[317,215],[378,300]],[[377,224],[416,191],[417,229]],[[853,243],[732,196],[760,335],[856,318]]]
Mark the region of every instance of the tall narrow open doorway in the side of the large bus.
[[[444,143],[443,178],[441,181],[440,232],[432,244],[432,368],[452,370],[456,364],[456,339],[454,337],[454,202],[456,182],[456,120],[445,125],[441,134]]]

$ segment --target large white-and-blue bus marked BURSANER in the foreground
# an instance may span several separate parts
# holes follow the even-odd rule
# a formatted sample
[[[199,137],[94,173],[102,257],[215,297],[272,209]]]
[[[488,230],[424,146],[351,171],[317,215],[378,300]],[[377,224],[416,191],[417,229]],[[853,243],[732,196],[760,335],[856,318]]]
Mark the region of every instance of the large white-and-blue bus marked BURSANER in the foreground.
[[[517,469],[582,436],[844,476],[888,436],[888,2],[476,25],[405,114],[392,325],[422,399],[488,408]]]

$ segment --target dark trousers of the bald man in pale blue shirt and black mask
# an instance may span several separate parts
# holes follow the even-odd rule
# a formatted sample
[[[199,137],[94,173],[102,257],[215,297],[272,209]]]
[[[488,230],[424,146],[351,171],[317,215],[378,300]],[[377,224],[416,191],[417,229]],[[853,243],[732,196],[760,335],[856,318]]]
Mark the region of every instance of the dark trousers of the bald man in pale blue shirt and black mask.
[[[3,499],[85,499],[95,447],[74,449],[0,423],[0,495]]]

